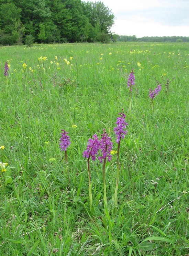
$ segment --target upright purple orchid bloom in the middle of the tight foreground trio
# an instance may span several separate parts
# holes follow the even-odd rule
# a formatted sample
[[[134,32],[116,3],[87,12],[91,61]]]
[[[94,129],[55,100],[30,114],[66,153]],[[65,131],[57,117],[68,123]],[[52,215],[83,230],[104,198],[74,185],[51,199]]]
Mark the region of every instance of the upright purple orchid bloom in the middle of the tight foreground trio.
[[[100,160],[100,163],[102,163],[102,160],[105,159],[106,157],[108,157],[109,162],[112,159],[110,151],[113,148],[113,143],[111,142],[111,138],[108,137],[108,134],[106,133],[105,129],[103,129],[103,131],[104,133],[101,134],[102,138],[100,140],[100,147],[99,147],[99,149],[101,149],[102,156],[98,157],[98,159]]]

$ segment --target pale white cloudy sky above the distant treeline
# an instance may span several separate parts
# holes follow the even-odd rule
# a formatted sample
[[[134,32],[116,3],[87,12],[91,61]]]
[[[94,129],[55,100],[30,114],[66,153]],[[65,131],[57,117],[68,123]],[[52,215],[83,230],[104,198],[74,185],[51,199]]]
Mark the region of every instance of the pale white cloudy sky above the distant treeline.
[[[95,2],[95,0],[89,0]],[[100,1],[100,0],[96,0]],[[189,0],[101,0],[114,13],[119,35],[189,36]]]

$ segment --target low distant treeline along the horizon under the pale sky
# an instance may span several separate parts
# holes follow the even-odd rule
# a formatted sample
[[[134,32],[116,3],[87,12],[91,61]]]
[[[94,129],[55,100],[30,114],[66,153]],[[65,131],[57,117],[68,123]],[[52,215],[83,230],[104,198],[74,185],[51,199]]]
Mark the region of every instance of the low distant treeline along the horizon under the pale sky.
[[[144,36],[137,38],[136,35],[114,35],[119,42],[189,42],[187,36]]]

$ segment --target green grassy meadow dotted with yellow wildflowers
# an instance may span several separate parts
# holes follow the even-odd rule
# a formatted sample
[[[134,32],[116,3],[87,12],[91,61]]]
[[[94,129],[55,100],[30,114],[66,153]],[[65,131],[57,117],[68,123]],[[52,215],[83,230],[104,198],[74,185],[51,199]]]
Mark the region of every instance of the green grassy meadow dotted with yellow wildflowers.
[[[189,254],[188,43],[3,46],[0,86],[0,256]],[[118,150],[122,108],[118,207],[115,154],[105,166],[107,217],[103,164],[90,161],[90,211],[82,154],[102,129]],[[71,139],[69,175],[61,129]]]

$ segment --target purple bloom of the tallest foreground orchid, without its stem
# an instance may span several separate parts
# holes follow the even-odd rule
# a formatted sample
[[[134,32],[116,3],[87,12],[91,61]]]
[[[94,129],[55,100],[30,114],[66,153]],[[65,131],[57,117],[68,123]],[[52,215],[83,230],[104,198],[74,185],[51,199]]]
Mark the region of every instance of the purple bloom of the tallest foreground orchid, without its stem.
[[[123,110],[123,108],[122,108],[122,110]],[[123,112],[119,113],[118,115],[120,115],[120,117],[117,118],[117,122],[115,123],[118,126],[113,128],[113,130],[115,131],[115,137],[117,138],[115,140],[116,143],[119,143],[121,138],[124,139],[125,135],[127,135],[127,132],[128,132],[128,131],[124,130],[124,129],[126,129],[126,125],[128,125],[125,122],[126,115]]]

